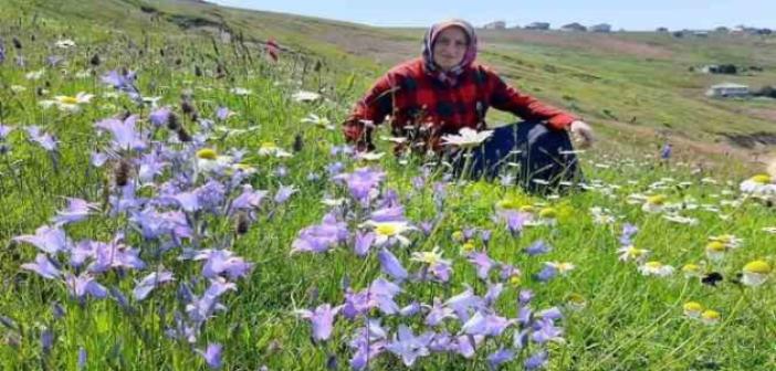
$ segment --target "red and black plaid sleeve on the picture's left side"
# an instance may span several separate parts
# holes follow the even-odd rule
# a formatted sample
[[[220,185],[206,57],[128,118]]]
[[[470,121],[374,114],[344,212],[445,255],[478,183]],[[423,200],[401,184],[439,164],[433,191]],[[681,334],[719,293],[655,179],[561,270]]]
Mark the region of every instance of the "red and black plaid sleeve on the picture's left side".
[[[394,93],[398,89],[396,80],[391,72],[382,75],[356,103],[343,123],[343,132],[348,142],[355,142],[359,149],[374,149],[371,131],[394,110]]]

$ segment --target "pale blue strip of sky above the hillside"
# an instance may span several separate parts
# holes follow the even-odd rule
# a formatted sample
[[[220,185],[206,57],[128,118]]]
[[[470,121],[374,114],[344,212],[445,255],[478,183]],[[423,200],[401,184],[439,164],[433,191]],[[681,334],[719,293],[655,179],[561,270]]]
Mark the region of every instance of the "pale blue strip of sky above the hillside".
[[[447,18],[507,26],[534,21],[558,28],[570,22],[609,23],[615,29],[711,29],[746,24],[776,28],[776,0],[208,0],[256,10],[313,15],[373,25],[427,26]]]

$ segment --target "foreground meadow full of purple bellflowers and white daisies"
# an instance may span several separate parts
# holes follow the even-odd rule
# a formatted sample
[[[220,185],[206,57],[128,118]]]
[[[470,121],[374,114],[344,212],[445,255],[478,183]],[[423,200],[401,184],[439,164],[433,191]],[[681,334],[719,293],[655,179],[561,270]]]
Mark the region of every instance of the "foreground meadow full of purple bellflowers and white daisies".
[[[526,194],[347,146],[379,65],[30,9],[0,25],[3,369],[776,368],[759,165],[606,126],[583,184]]]

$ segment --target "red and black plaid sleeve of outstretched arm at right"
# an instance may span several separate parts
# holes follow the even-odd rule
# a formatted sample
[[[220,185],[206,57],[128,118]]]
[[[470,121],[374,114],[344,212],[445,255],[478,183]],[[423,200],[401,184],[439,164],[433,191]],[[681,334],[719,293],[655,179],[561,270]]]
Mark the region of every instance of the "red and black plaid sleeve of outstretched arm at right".
[[[507,85],[499,75],[486,71],[491,106],[511,112],[526,120],[546,120],[554,129],[565,129],[577,118],[562,109],[546,105],[531,95],[520,93]]]

